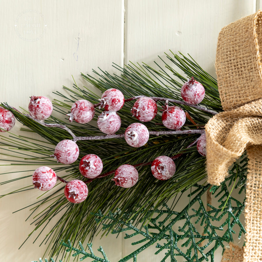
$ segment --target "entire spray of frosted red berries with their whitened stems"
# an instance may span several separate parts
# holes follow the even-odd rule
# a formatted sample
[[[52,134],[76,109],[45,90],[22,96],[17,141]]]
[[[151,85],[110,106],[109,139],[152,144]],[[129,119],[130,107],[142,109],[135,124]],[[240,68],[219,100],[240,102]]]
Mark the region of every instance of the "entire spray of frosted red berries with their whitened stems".
[[[99,130],[106,135],[97,137],[76,137],[66,126],[45,123],[44,120],[51,115],[53,106],[52,102],[44,96],[32,96],[28,106],[30,115],[24,115],[40,123],[41,125],[63,128],[72,135],[72,140],[66,139],[60,141],[55,147],[54,154],[51,155],[51,157],[54,157],[57,162],[62,164],[72,164],[78,159],[79,148],[76,142],[79,140],[124,137],[129,146],[137,148],[144,146],[148,142],[150,134],[199,133],[201,136],[188,147],[197,143],[197,150],[201,155],[205,156],[206,137],[204,130],[180,130],[180,128],[185,124],[186,113],[178,106],[168,105],[168,102],[175,102],[177,104],[192,105],[198,109],[208,111],[208,109],[196,106],[196,104],[199,104],[203,100],[204,95],[204,87],[192,77],[192,79],[188,80],[181,89],[181,96],[185,102],[167,98],[149,98],[144,96],[138,96],[125,100],[121,91],[115,88],[106,90],[102,94],[101,99],[99,99],[100,102],[98,104],[93,105],[91,102],[84,99],[76,101],[72,105],[70,113],[67,114],[70,122],[76,121],[77,123],[86,124],[93,120],[95,116],[95,107],[104,109],[104,111],[98,116],[97,126]],[[165,104],[162,106],[163,109],[161,110],[162,124],[172,131],[149,132],[146,125],[138,122],[129,125],[124,134],[116,135],[115,133],[121,127],[121,118],[116,112],[123,107],[126,101],[135,99],[137,100],[131,109],[131,113],[132,116],[136,117],[141,122],[148,122],[155,118],[157,115],[157,102],[165,101]],[[14,110],[17,111],[16,109]],[[0,107],[0,131],[9,131],[13,128],[14,124],[15,117],[13,113],[3,107]],[[161,155],[146,164],[151,164],[151,172],[155,178],[159,180],[167,180],[174,176],[176,171],[174,159],[178,158],[180,155],[182,155],[182,153],[174,157]],[[144,164],[145,163],[143,163],[143,165]],[[39,167],[36,169],[33,173],[32,181],[35,188],[47,191],[55,186],[56,179],[58,178],[62,182],[66,183],[64,189],[66,199],[72,203],[81,203],[88,195],[88,188],[86,184],[98,177],[104,177],[114,173],[114,178],[112,180],[117,186],[124,188],[132,187],[138,181],[139,175],[136,169],[138,166],[139,164],[133,166],[127,163],[121,165],[114,171],[101,175],[103,170],[103,162],[101,158],[95,154],[88,154],[82,157],[79,162],[79,172],[84,178],[88,178],[86,181],[78,179],[66,181],[57,176],[49,167]]]

